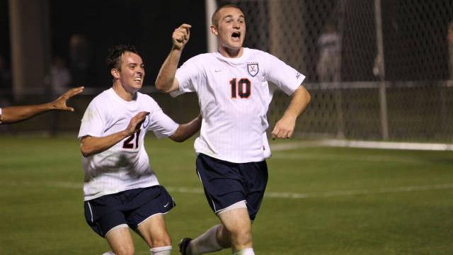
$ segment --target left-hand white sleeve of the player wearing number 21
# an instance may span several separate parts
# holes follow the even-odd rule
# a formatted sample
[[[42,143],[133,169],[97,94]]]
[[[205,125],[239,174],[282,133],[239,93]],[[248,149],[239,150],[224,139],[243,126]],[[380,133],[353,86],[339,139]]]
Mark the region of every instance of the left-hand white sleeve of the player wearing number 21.
[[[105,120],[99,110],[98,101],[91,101],[81,120],[79,139],[87,135],[93,137],[101,137],[103,135]]]

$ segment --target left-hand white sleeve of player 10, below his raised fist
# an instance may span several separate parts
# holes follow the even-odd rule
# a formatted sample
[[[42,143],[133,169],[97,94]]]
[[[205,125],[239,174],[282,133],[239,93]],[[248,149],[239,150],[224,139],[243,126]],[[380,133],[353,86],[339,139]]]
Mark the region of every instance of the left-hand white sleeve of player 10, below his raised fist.
[[[175,78],[179,82],[179,89],[171,92],[170,95],[175,97],[186,92],[197,91],[196,86],[200,79],[200,73],[200,68],[194,57],[184,62],[184,64],[176,70],[175,75]]]

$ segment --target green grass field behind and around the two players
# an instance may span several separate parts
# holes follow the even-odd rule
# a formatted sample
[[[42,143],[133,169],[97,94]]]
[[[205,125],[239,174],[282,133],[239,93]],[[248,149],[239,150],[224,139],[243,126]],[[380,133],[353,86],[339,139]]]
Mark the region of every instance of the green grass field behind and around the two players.
[[[107,251],[84,221],[75,135],[0,141],[0,254]],[[193,140],[149,135],[147,151],[177,203],[166,221],[178,254],[180,238],[217,218],[200,193]],[[452,254],[452,152],[305,147],[275,151],[268,164],[268,196],[253,224],[256,254]],[[137,254],[149,254],[134,240]]]

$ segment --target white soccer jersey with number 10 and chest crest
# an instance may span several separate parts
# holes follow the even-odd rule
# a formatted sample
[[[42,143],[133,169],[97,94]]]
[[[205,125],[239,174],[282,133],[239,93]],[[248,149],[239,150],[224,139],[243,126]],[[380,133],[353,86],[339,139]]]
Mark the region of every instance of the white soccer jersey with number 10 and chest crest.
[[[219,52],[190,58],[176,71],[179,90],[197,92],[203,120],[195,151],[228,162],[259,162],[270,156],[266,113],[275,88],[291,95],[304,75],[260,50],[239,58]]]

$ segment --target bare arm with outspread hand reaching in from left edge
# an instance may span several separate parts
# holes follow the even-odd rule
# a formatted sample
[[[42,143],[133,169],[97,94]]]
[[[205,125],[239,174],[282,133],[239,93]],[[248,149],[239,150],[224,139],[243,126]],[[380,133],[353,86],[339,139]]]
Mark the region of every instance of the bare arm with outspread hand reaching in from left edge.
[[[32,118],[40,113],[46,111],[60,110],[60,111],[74,111],[74,108],[68,107],[66,102],[69,98],[84,91],[84,87],[69,89],[66,93],[59,96],[55,101],[50,103],[42,103],[31,106],[10,106],[1,108],[0,122],[1,123],[16,123],[28,118]]]

